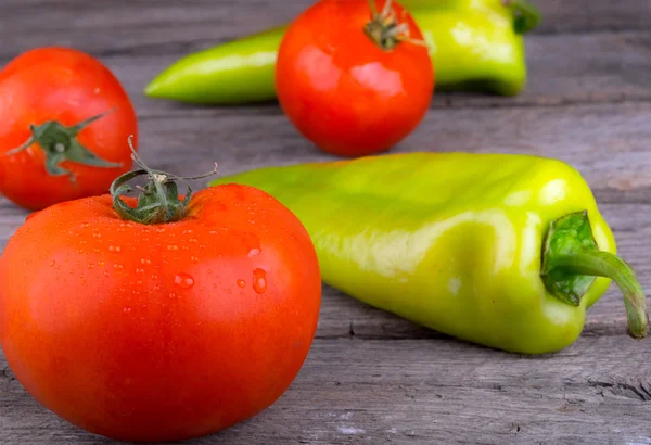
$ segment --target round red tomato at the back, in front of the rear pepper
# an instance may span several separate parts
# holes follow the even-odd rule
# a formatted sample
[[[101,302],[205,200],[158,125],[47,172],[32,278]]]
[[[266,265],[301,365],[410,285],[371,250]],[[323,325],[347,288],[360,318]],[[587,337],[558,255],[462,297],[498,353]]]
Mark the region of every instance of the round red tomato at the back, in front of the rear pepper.
[[[417,24],[395,2],[375,4],[382,12],[372,16],[367,0],[321,0],[289,26],[278,52],[280,105],[303,136],[332,154],[391,149],[432,100],[434,69],[424,44],[414,42],[423,42]],[[396,41],[392,33],[409,39]]]

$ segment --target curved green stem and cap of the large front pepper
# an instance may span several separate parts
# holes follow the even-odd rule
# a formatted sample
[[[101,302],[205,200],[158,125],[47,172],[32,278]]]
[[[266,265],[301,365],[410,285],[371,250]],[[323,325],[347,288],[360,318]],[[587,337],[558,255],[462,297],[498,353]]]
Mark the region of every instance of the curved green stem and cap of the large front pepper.
[[[541,277],[554,296],[575,306],[595,277],[612,279],[624,296],[628,334],[634,339],[647,336],[647,298],[635,270],[616,255],[598,250],[587,212],[551,223],[542,251]]]

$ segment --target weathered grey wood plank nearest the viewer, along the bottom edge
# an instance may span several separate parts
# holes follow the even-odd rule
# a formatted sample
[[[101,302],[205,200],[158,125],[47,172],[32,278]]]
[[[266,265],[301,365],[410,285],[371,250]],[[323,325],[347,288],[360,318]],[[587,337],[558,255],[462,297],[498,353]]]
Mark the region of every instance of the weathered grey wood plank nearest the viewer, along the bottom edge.
[[[446,339],[317,340],[273,406],[189,444],[649,443],[650,360],[646,343],[624,336],[583,338],[542,357]],[[26,437],[108,443],[58,419],[10,370],[0,372],[0,442]]]

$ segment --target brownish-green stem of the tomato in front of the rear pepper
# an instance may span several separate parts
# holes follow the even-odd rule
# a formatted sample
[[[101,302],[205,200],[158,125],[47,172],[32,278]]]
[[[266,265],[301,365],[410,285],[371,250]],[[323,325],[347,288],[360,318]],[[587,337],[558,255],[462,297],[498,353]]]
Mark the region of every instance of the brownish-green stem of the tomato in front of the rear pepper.
[[[381,12],[378,12],[375,0],[369,0],[369,8],[371,21],[365,25],[363,33],[383,51],[391,51],[403,41],[427,47],[423,40],[412,39],[409,36],[409,25],[398,21],[392,8],[392,0],[384,2]],[[407,13],[407,10],[404,10],[404,13]]]

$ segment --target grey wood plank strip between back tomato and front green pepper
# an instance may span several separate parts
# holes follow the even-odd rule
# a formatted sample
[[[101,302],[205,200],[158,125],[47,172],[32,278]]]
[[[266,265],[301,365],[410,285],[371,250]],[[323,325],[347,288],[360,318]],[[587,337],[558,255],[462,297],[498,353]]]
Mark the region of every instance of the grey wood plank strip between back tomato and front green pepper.
[[[557,157],[600,198],[651,202],[651,103],[534,109],[431,110],[394,152],[506,152]],[[224,175],[265,165],[333,160],[301,137],[276,107],[188,109],[143,117],[141,152],[180,173],[219,163]]]

